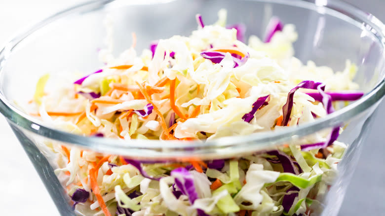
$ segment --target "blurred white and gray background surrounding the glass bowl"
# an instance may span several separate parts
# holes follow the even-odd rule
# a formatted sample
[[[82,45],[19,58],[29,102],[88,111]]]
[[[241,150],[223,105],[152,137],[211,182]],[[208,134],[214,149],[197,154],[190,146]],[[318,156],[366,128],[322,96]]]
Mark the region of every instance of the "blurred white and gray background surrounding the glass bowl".
[[[385,22],[385,0],[346,0]],[[84,0],[0,0],[0,47],[18,31]],[[384,215],[385,103],[376,114],[340,210],[341,216]],[[56,216],[58,212],[15,135],[0,116],[1,215]]]

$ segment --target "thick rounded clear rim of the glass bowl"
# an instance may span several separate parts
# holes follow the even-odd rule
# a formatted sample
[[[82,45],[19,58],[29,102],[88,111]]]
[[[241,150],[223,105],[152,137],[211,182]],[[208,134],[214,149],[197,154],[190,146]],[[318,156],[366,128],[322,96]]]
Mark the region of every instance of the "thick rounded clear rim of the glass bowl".
[[[76,6],[58,12],[43,21],[28,28],[22,33],[9,40],[0,51],[0,73],[6,59],[12,53],[17,45],[35,31],[43,28],[47,24],[55,20],[81,11],[89,11],[90,8],[100,8],[114,0],[89,1],[78,4]],[[169,2],[170,0],[163,0]],[[163,1],[159,1],[162,3]],[[364,12],[355,6],[342,0],[253,0],[259,2],[271,2],[284,5],[301,6],[311,9],[328,8],[333,13],[343,15],[342,17],[353,19],[357,23],[361,23],[367,30],[371,31],[373,36],[378,39],[382,49],[385,50],[385,25],[370,13]],[[315,9],[312,9],[315,10]],[[341,17],[340,17],[341,18]],[[343,18],[341,18],[343,19]],[[345,20],[347,22],[347,20]],[[314,122],[299,125],[297,127],[288,127],[281,131],[259,132],[251,135],[233,136],[219,138],[211,141],[184,142],[181,141],[155,141],[155,140],[125,140],[84,137],[57,129],[49,128],[39,122],[34,117],[22,112],[13,106],[3,95],[0,90],[0,112],[6,117],[8,123],[17,125],[33,134],[37,134],[61,142],[63,144],[78,145],[81,148],[92,149],[99,152],[109,152],[113,154],[126,155],[132,157],[145,158],[175,158],[185,156],[206,156],[221,154],[233,155],[238,152],[250,152],[264,149],[273,144],[287,142],[293,140],[296,136],[302,137],[325,128],[342,124],[352,116],[371,108],[378,104],[385,95],[385,78],[379,79],[378,84],[361,99],[351,103],[345,108],[339,109],[323,118],[318,118]]]

